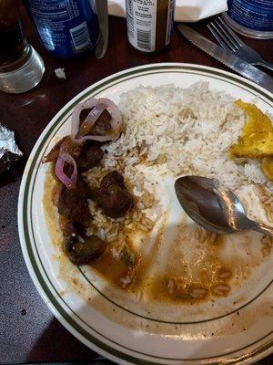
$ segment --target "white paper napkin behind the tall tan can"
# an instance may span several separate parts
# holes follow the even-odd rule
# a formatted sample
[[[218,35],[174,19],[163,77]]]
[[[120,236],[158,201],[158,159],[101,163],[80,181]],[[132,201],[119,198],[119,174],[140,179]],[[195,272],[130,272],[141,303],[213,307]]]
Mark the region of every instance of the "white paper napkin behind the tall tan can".
[[[224,11],[227,0],[177,0],[175,20],[197,22]],[[112,16],[126,16],[125,0],[108,0],[108,12]]]

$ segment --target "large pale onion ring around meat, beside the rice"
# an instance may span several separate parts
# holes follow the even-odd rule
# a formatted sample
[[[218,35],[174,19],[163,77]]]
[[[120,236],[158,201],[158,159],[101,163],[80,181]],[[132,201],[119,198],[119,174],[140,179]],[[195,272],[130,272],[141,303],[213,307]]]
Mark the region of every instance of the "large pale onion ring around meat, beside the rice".
[[[79,116],[80,116],[81,111],[84,110],[84,109],[93,108],[98,104],[104,104],[105,107],[107,108],[107,110],[109,111],[109,113],[112,116],[112,119],[110,120],[111,129],[112,129],[111,133],[106,134],[105,136],[94,136],[94,135],[78,136],[78,131],[79,131],[79,127],[80,127]],[[92,112],[92,110],[90,111],[90,113],[91,112]],[[89,117],[90,113],[88,114],[87,118]],[[97,116],[97,118],[98,117],[99,116]],[[90,116],[90,118],[91,118],[91,116]],[[93,124],[95,122],[96,122],[96,120],[94,120]],[[72,114],[71,134],[72,134],[72,137],[77,142],[87,141],[87,140],[89,140],[89,141],[101,141],[101,142],[103,142],[103,141],[116,141],[117,138],[119,137],[119,134],[120,134],[120,131],[121,131],[121,126],[122,126],[122,115],[121,115],[121,112],[116,107],[116,104],[113,101],[111,101],[109,99],[106,99],[106,98],[89,99],[84,103],[76,105],[76,107],[73,111],[73,114]]]

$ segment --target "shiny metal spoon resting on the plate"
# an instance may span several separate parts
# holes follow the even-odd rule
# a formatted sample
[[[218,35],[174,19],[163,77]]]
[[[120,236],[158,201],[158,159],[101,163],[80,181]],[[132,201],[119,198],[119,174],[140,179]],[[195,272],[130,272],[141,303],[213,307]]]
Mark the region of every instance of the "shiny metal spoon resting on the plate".
[[[217,179],[202,176],[179,177],[175,183],[177,198],[197,224],[217,234],[254,230],[273,236],[273,227],[248,219],[242,203]]]

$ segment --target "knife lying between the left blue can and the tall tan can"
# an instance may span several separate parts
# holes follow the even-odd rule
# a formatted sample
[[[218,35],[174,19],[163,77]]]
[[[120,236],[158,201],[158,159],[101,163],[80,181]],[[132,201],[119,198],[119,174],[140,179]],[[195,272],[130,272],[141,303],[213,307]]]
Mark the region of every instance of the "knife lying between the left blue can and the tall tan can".
[[[96,44],[96,57],[102,58],[108,47],[108,7],[107,0],[96,0],[96,15],[99,25],[99,39]]]

